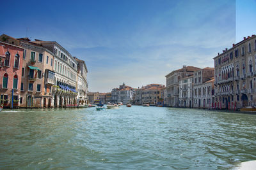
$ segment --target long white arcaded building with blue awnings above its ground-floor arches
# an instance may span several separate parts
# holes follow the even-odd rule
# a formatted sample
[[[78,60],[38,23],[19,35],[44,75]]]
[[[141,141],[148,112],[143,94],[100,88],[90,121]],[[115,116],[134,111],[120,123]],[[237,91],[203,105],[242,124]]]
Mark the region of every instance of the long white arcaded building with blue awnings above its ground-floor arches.
[[[55,72],[52,99],[54,107],[72,107],[77,104],[77,61],[56,41],[35,39],[33,43],[44,46],[54,53]]]

